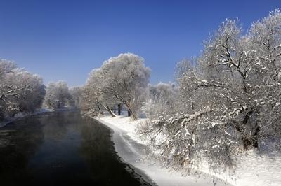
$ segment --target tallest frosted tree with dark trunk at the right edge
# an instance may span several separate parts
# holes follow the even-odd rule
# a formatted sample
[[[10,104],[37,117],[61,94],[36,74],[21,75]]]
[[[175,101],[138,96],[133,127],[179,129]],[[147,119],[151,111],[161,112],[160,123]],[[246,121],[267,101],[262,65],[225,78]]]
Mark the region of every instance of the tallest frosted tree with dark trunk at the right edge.
[[[204,90],[213,99],[197,106],[212,106],[214,120],[234,127],[244,149],[259,148],[263,136],[280,136],[277,124],[268,121],[268,110],[278,108],[280,31],[279,10],[255,22],[246,36],[241,36],[235,21],[227,20],[206,43],[200,59],[202,73],[186,77],[195,85],[211,87]],[[280,115],[275,112],[276,117]]]

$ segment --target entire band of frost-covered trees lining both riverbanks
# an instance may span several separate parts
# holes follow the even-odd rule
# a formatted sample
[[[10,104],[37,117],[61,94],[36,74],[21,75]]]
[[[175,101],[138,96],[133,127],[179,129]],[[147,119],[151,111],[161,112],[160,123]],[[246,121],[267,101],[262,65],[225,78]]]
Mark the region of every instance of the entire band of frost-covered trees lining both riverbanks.
[[[150,69],[131,53],[93,69],[86,85],[69,89],[50,83],[13,62],[0,61],[0,117],[44,105],[79,106],[87,115],[122,104],[132,120],[150,119],[139,132],[168,166],[193,169],[207,161],[213,171],[235,169],[237,154],[275,144],[281,150],[281,13],[251,25],[226,20],[204,43],[200,57],[178,63],[176,85],[148,85]],[[46,95],[45,95],[46,94]],[[266,145],[268,147],[268,145]]]

